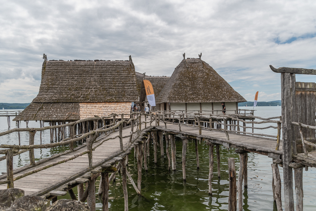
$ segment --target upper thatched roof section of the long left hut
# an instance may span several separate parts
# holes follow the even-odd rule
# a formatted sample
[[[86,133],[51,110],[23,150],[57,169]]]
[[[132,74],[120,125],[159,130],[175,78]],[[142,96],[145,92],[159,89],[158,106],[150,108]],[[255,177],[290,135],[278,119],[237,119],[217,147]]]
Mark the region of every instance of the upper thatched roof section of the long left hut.
[[[44,61],[33,102],[134,102],[132,61]]]

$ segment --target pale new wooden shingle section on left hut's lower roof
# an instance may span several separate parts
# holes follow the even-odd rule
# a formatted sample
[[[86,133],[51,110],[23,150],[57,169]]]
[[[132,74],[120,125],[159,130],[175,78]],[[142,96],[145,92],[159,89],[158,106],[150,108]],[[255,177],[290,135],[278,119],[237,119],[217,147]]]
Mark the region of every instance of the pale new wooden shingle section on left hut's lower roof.
[[[131,102],[80,102],[80,119],[115,114],[129,114]],[[125,118],[129,118],[126,116]]]

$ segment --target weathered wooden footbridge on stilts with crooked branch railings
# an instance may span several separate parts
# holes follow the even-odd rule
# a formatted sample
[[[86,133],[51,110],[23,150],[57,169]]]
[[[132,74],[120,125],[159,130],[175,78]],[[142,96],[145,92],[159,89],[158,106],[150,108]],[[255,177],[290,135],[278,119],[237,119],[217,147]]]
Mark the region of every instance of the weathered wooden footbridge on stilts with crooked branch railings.
[[[84,119],[76,122],[70,122],[64,125],[40,127],[40,128],[15,128],[9,131],[0,133],[3,136],[8,133],[28,131],[30,145],[1,145],[1,148],[6,148],[1,153],[6,154],[7,159],[7,174],[0,177],[0,189],[7,187],[20,188],[25,191],[26,195],[40,195],[47,199],[57,200],[58,195],[66,195],[67,192],[74,200],[88,200],[88,205],[91,210],[95,209],[95,180],[101,175],[99,194],[102,192],[103,209],[107,210],[108,202],[108,183],[115,176],[117,169],[121,168],[123,174],[123,190],[125,195],[125,210],[128,209],[127,200],[127,180],[133,184],[138,194],[141,194],[141,177],[142,168],[147,167],[147,154],[149,154],[149,144],[153,140],[155,163],[157,162],[157,144],[160,142],[161,153],[166,152],[169,162],[169,169],[176,170],[175,163],[175,139],[178,136],[183,140],[182,149],[182,166],[183,179],[185,175],[185,154],[186,144],[188,139],[194,139],[196,145],[198,141],[204,141],[210,146],[210,174],[209,174],[209,194],[212,194],[211,180],[213,177],[213,149],[216,146],[216,155],[218,161],[220,145],[227,148],[237,148],[236,152],[240,153],[240,172],[239,172],[239,187],[238,191],[242,191],[242,181],[245,187],[247,186],[247,152],[255,152],[274,158],[273,169],[274,183],[277,184],[275,191],[275,200],[278,206],[282,208],[281,203],[281,179],[278,174],[277,164],[282,166],[282,144],[280,146],[281,121],[280,117],[271,117],[268,119],[248,115],[245,120],[243,115],[213,115],[210,113],[183,113],[183,111],[167,111],[157,112],[156,114],[140,114],[135,113],[135,118],[121,120],[114,118],[111,124],[104,124],[100,127],[98,121],[105,123],[106,119],[120,115],[111,115],[107,117],[95,117]],[[169,116],[173,118],[168,118]],[[125,114],[126,116],[126,114]],[[178,119],[176,118],[178,117]],[[244,117],[244,120],[243,120]],[[256,118],[256,121],[253,121]],[[172,121],[169,121],[171,120]],[[257,121],[257,120],[263,121]],[[277,120],[274,120],[277,119]],[[175,121],[178,120],[178,121]],[[75,131],[75,125],[82,122],[90,122],[93,130],[87,130],[86,133],[80,133],[80,130]],[[139,124],[139,122],[141,122]],[[242,125],[241,125],[242,122]],[[271,134],[253,133],[254,124],[270,123],[276,126],[261,127],[276,128],[278,132],[275,136]],[[250,124],[251,127],[248,127]],[[129,125],[129,126],[128,126]],[[135,125],[135,126],[134,126]],[[97,127],[100,128],[97,128]],[[68,127],[70,136],[64,137],[64,140],[57,143],[34,145],[34,135],[36,131],[52,130],[55,128]],[[306,126],[307,127],[307,126]],[[251,132],[247,132],[250,129]],[[135,129],[135,131],[134,131]],[[241,129],[241,130],[240,130]],[[64,130],[60,130],[61,132]],[[78,134],[77,134],[78,133]],[[163,136],[166,144],[163,143]],[[78,140],[86,139],[87,143],[73,148],[73,143]],[[49,148],[54,146],[70,145],[70,150],[53,155],[51,158],[45,158],[38,162],[34,159],[34,148]],[[126,170],[126,159],[131,149],[135,147],[138,163],[138,180],[134,183]],[[12,162],[13,155],[18,154],[17,150],[25,152],[29,151],[30,165],[13,171]],[[171,152],[170,152],[171,150]],[[170,153],[169,153],[170,152]],[[164,154],[161,154],[163,156]],[[197,166],[199,166],[198,152],[196,147]],[[295,155],[293,168],[301,168],[302,166],[316,167],[315,152],[309,152],[308,157],[304,153]],[[144,162],[144,165],[142,164]],[[218,162],[220,163],[220,162]],[[113,168],[113,167],[114,168]],[[220,166],[217,166],[220,168]],[[233,166],[231,171],[234,172]],[[111,173],[109,178],[109,173]],[[220,171],[218,171],[220,172]],[[236,174],[234,173],[236,176]],[[112,177],[112,178],[111,178]],[[220,177],[220,175],[218,175]],[[232,180],[233,181],[233,180]],[[86,183],[84,190],[83,184]],[[78,198],[74,194],[72,188],[78,186]],[[229,197],[229,204],[236,204],[236,183],[232,184]],[[278,192],[279,191],[279,192]],[[242,197],[242,194],[239,194]],[[242,207],[242,198],[239,198],[239,203]]]

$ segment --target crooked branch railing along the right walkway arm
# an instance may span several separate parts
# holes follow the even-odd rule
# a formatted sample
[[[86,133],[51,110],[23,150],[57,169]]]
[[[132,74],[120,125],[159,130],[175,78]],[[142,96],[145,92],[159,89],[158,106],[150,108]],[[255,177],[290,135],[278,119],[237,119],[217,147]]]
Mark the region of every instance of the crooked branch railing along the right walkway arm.
[[[261,137],[269,137],[276,139],[276,150],[279,150],[280,146],[280,136],[281,136],[281,117],[270,117],[270,118],[262,118],[259,116],[253,115],[240,115],[240,114],[227,114],[227,115],[215,115],[210,113],[194,113],[194,112],[184,112],[184,111],[157,111],[158,119],[165,123],[165,127],[167,127],[167,123],[178,124],[179,131],[181,131],[181,125],[191,125],[193,127],[199,128],[199,134],[202,132],[202,128],[208,130],[218,130],[224,131],[229,140],[229,133],[237,133],[237,134],[245,134],[245,135],[253,135],[253,136],[261,136]],[[170,118],[173,116],[174,118]],[[175,117],[177,118],[177,121]],[[246,121],[246,119],[251,121]],[[274,120],[278,119],[278,120]],[[262,121],[254,121],[254,120],[262,120]],[[229,123],[228,123],[229,122]],[[240,125],[242,123],[243,125]],[[267,127],[254,127],[254,124],[264,124],[270,123],[275,124],[269,125]],[[252,126],[247,126],[247,124],[251,124]],[[242,128],[242,131],[241,129]],[[277,129],[276,135],[264,134],[264,133],[254,133],[254,129],[264,130],[268,128]],[[252,132],[247,132],[246,129],[251,129]]]

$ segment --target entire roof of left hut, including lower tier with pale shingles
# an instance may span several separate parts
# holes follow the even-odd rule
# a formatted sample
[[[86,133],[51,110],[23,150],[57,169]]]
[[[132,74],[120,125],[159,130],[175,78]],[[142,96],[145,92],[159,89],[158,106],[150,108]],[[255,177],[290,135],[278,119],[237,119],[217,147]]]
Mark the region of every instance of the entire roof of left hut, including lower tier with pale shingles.
[[[135,67],[127,61],[44,61],[40,91],[14,121],[75,121],[129,113],[138,100]]]

